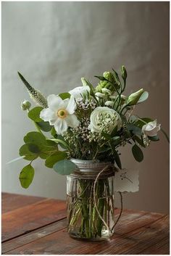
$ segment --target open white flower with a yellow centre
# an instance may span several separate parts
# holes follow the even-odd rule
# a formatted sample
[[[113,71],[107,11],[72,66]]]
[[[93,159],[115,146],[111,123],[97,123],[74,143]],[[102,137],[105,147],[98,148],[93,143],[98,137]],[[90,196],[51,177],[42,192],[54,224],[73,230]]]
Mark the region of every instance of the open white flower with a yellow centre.
[[[59,96],[51,94],[47,98],[48,108],[41,110],[40,117],[54,125],[58,134],[63,134],[70,126],[79,125],[78,118],[74,115],[76,104],[73,96],[62,100]]]

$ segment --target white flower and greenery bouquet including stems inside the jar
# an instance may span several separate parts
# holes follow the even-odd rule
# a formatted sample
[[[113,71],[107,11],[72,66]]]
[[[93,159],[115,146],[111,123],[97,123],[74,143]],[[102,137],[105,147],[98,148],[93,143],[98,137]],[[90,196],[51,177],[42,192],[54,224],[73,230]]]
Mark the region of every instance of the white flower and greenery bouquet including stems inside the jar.
[[[22,110],[28,111],[28,117],[37,130],[24,137],[25,144],[20,148],[20,156],[30,161],[20,173],[20,183],[25,189],[33,181],[34,169],[31,164],[38,157],[45,161],[47,168],[67,176],[77,169],[72,159],[110,162],[115,168],[122,169],[121,146],[129,144],[133,157],[141,162],[141,148],[145,149],[151,141],[159,141],[157,133],[160,124],[157,120],[133,114],[135,105],[144,102],[149,96],[148,92],[141,88],[128,96],[123,94],[127,80],[124,66],[121,67],[120,75],[112,70],[96,76],[99,79],[96,87],[81,78],[83,86],[59,95],[51,94],[47,98],[18,74],[28,88],[31,99],[38,104],[32,109],[28,101],[21,104]],[[97,204],[88,203],[89,197],[93,196],[86,194],[85,188],[94,186],[94,182],[82,181],[79,184],[82,203],[79,206],[77,201],[77,207],[72,207],[69,226],[77,223],[82,214],[84,217],[79,226],[80,237],[101,237],[102,224],[105,223],[104,219],[107,221],[107,216],[102,220],[100,217],[107,212],[109,205],[105,208],[107,202],[103,200]],[[109,190],[106,179],[104,182],[99,180],[96,186],[99,190],[94,190],[94,193],[99,197],[104,194],[104,187],[105,191]]]

